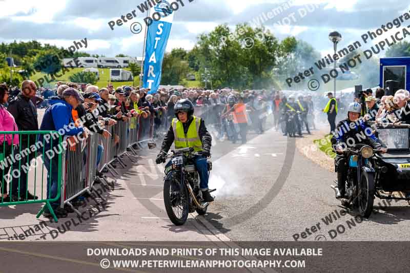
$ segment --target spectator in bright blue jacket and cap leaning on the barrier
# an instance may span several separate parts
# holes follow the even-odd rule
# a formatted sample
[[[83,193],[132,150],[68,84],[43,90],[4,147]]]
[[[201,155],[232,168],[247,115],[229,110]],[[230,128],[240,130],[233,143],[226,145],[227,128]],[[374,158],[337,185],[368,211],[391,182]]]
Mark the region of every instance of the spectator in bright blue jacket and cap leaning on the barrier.
[[[73,88],[64,90],[62,97],[63,99],[58,98],[50,101],[50,107],[44,113],[40,130],[58,131],[61,137],[65,135],[79,137],[80,134],[87,136],[88,131],[83,127],[77,127],[72,115],[72,110],[76,109],[80,102],[84,102],[84,98]],[[61,134],[61,132],[63,133]],[[40,135],[39,141],[43,142],[43,137]],[[53,199],[57,196],[58,151],[61,151],[61,147],[58,148],[58,138],[53,139],[52,145],[49,143],[51,140],[47,140],[47,137],[44,139],[43,161],[47,169],[47,196]],[[67,217],[65,209],[59,208],[59,200],[50,202],[50,204],[57,218]],[[48,208],[45,209],[44,216],[48,218],[52,216]]]

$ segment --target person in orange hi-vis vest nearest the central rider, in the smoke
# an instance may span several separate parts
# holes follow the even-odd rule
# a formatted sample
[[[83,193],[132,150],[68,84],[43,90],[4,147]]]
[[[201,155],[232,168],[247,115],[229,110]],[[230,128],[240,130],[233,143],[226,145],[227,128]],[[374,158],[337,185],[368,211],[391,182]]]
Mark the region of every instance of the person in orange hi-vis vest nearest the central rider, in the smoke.
[[[232,99],[228,98],[228,104],[226,106],[226,112],[222,116],[227,116],[232,113],[233,120],[235,124],[239,126],[239,134],[242,140],[242,144],[247,142],[247,131],[248,131],[248,118],[246,114],[246,106],[243,103],[243,97],[239,97],[239,101],[236,104],[232,104]],[[237,139],[237,133],[234,131],[234,140]],[[236,141],[235,141],[236,142]],[[235,143],[234,142],[234,143]]]

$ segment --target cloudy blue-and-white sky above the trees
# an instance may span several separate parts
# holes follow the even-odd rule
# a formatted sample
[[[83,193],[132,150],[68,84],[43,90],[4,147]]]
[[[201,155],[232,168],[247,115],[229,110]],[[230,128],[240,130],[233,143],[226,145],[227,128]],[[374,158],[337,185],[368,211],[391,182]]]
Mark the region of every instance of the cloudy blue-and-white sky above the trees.
[[[233,27],[238,23],[254,22],[263,13],[268,16],[268,12],[283,7],[283,3],[291,3],[290,9],[267,18],[263,25],[279,39],[293,35],[326,54],[333,50],[327,38],[332,30],[339,31],[343,36],[340,47],[347,47],[356,40],[361,41],[360,36],[367,31],[380,28],[410,10],[408,1],[402,0],[181,1],[185,7],[175,14],[167,51],[176,47],[191,49],[198,34],[210,32],[219,24]],[[137,5],[143,2],[0,0],[0,41],[9,43],[35,39],[68,48],[74,40],[87,37],[86,51],[90,54],[141,56],[144,31],[133,34],[130,25],[133,22],[144,25],[145,14],[137,9]],[[133,10],[136,10],[136,18],[122,26],[115,26],[114,30],[110,29],[109,21],[117,20]],[[294,19],[291,16],[293,13]],[[410,25],[410,20],[406,23],[405,26]],[[389,37],[396,31],[385,33],[380,38]]]

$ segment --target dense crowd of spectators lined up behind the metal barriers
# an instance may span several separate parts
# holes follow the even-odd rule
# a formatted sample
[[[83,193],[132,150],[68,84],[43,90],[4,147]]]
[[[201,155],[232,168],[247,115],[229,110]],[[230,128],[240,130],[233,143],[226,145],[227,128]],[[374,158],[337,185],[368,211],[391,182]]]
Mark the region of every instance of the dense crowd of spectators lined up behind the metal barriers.
[[[139,118],[142,138],[151,137],[151,124],[153,124],[153,137],[163,137],[168,131],[174,116],[173,108],[178,99],[188,98],[196,107],[195,115],[206,120],[208,124],[221,124],[226,118],[222,113],[228,113],[227,107],[232,100],[235,109],[241,106],[249,111],[251,121],[248,124],[239,124],[242,143],[246,136],[242,129],[252,125],[255,132],[263,133],[263,122],[266,117],[268,105],[274,100],[275,92],[265,90],[244,90],[238,92],[229,88],[221,90],[201,90],[199,88],[161,88],[155,94],[148,94],[149,89],[121,86],[114,88],[112,83],[107,87],[94,85],[78,86],[73,82],[58,82],[55,88],[37,88],[31,80],[23,81],[20,87],[8,88],[0,85],[0,131],[61,131],[61,136],[77,136],[86,138],[90,134],[100,134],[101,137],[112,139],[114,145],[119,143],[119,136],[107,130],[119,121]],[[45,108],[44,117],[38,121],[37,110]],[[228,113],[229,114],[229,113]],[[227,115],[228,115],[227,114]],[[40,123],[40,124],[39,124]],[[229,130],[219,126],[219,135],[229,135]],[[238,127],[239,128],[239,127]],[[150,132],[151,131],[151,132]],[[236,132],[236,134],[238,134]],[[231,132],[232,133],[232,132]],[[246,134],[246,133],[245,133]],[[229,136],[228,136],[229,137]],[[44,135],[28,134],[12,136],[0,134],[0,155],[8,157],[14,151],[30,150],[33,143],[44,142]],[[8,173],[21,169],[21,165],[29,163],[37,156],[42,155],[44,165],[48,171],[47,195],[53,198],[57,194],[57,159],[45,156],[45,152],[55,149],[57,141],[47,143],[41,153],[29,152],[11,166],[1,170],[1,195],[0,202],[14,202],[35,200],[38,197],[28,191],[30,181],[27,171],[20,170],[18,177],[10,178]],[[104,153],[101,143],[97,148],[97,166]],[[0,158],[0,160],[3,158]],[[115,166],[115,164],[114,164]],[[96,175],[103,175],[96,168]],[[66,217],[70,207],[59,208],[58,202],[51,206],[58,218]],[[48,209],[44,212],[50,217]]]

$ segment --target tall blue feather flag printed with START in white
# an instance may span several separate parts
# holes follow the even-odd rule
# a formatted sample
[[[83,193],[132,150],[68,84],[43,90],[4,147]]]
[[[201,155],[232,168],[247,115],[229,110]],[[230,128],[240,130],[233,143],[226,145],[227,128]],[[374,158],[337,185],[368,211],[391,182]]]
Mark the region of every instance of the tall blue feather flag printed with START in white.
[[[145,18],[148,31],[145,45],[144,88],[151,89],[149,94],[157,92],[161,81],[162,60],[170,36],[174,13],[170,4],[162,1],[151,8],[150,16]]]

